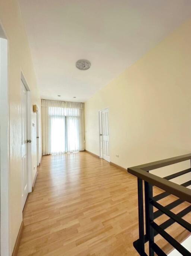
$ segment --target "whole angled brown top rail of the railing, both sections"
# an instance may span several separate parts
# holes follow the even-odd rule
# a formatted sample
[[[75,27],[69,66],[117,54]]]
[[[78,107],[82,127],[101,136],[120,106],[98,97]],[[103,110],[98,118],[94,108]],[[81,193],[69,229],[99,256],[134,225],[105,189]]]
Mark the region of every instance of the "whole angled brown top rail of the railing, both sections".
[[[189,159],[191,159],[191,154],[186,154],[152,163],[146,163],[144,165],[134,166],[128,168],[128,172],[142,180],[147,181],[148,183],[153,184],[153,186],[159,187],[160,189],[163,189],[170,194],[191,203],[191,189],[148,172],[153,169],[161,168],[167,165],[173,165],[174,163],[183,162]]]

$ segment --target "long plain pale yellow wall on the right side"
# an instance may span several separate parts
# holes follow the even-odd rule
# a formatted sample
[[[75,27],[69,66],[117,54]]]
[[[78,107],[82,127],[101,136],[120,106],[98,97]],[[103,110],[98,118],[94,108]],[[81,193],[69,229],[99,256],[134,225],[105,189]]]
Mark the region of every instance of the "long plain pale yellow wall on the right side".
[[[85,148],[97,155],[104,108],[111,162],[127,168],[191,152],[191,20],[85,102]]]

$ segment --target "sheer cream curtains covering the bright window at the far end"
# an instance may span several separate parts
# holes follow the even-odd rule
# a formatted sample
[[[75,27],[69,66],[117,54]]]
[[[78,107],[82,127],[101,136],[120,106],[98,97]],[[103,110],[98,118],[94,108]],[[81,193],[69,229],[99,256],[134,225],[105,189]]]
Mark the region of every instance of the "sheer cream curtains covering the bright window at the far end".
[[[42,100],[43,155],[84,150],[84,103]]]

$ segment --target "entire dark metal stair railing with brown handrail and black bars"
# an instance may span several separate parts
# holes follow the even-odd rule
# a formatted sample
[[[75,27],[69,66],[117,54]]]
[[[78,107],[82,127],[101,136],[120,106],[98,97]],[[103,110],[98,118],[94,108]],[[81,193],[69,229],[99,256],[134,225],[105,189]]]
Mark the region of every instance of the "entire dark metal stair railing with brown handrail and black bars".
[[[169,181],[175,177],[179,177],[188,172],[191,172],[191,168],[176,172],[175,174],[168,175],[164,178],[158,177],[154,174],[149,173],[149,171],[161,168],[168,165],[173,165],[175,163],[183,162],[186,160],[191,160],[191,154],[186,154],[183,156],[172,157],[169,159],[164,159],[152,163],[147,163],[144,165],[134,166],[128,168],[128,172],[135,175],[138,180],[138,217],[139,217],[139,239],[134,242],[134,247],[140,255],[146,256],[144,244],[149,241],[149,255],[154,256],[154,252],[157,255],[166,255],[162,249],[154,243],[154,237],[157,234],[162,235],[176,250],[178,250],[182,255],[191,256],[178,241],[171,237],[165,231],[173,223],[177,222],[179,225],[183,226],[188,231],[191,231],[190,223],[186,222],[182,217],[190,213],[191,206],[188,206],[178,214],[174,214],[171,209],[175,208],[177,205],[184,201],[191,203],[191,189],[187,186],[191,185],[191,180],[187,181],[181,185]],[[145,234],[144,234],[144,207],[143,207],[143,180],[144,180],[144,193],[145,193]],[[153,186],[159,187],[165,190],[165,192],[153,197]],[[160,205],[157,201],[170,194],[177,196],[179,199],[166,205],[165,207]],[[153,206],[158,210],[153,212]],[[170,217],[169,220],[157,225],[154,219],[166,214]]]

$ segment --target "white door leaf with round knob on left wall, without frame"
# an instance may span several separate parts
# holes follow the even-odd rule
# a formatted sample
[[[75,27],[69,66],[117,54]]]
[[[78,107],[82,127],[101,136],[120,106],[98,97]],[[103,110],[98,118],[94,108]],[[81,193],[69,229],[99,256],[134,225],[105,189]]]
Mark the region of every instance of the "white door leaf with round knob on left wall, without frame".
[[[27,111],[27,90],[25,85],[21,81],[22,91],[22,148],[21,148],[21,159],[22,159],[22,209],[25,206],[26,198],[28,196],[28,111]]]

